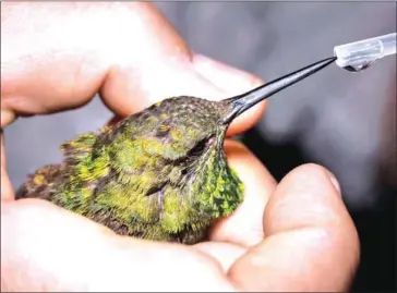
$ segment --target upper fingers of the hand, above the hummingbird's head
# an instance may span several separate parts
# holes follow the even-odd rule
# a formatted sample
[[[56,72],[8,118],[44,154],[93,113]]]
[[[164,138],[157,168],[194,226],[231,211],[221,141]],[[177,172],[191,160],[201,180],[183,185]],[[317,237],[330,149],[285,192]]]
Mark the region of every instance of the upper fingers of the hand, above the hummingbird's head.
[[[97,91],[124,117],[172,96],[222,99],[261,83],[196,58],[149,3],[5,3],[1,24],[1,110],[8,118],[2,125],[15,113],[82,106]],[[229,134],[255,123],[264,105],[244,113]]]

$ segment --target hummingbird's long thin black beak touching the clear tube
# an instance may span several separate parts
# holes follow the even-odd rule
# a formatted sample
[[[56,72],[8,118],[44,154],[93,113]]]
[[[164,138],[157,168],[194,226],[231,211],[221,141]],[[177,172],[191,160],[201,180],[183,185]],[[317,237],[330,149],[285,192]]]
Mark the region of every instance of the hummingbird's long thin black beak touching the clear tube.
[[[231,102],[232,110],[230,114],[225,118],[224,123],[230,123],[236,117],[240,115],[242,112],[246,111],[254,105],[324,69],[325,66],[333,63],[336,59],[336,57],[324,59],[296,72],[281,76],[273,82],[261,85],[248,93],[225,100]]]

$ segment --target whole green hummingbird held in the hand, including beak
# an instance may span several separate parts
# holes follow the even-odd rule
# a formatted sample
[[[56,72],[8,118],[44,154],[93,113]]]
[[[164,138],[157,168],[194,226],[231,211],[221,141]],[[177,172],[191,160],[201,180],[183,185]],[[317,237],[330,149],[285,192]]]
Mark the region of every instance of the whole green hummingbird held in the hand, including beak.
[[[164,99],[61,145],[63,160],[27,176],[16,199],[41,198],[120,235],[195,244],[243,202],[224,141],[241,113],[333,63],[327,58],[248,93]]]

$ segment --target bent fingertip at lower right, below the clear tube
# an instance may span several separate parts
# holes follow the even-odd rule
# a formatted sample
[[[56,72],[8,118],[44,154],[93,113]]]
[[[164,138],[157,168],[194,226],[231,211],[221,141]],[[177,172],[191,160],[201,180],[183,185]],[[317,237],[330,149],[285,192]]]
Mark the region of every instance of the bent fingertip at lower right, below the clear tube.
[[[268,200],[267,237],[231,267],[248,291],[345,291],[359,259],[357,231],[335,180],[306,164],[290,172]]]

